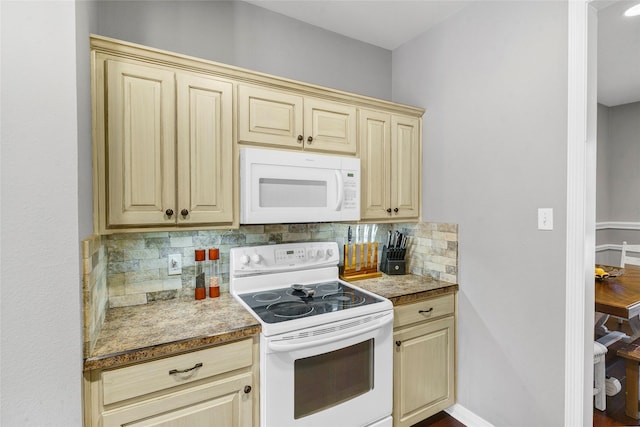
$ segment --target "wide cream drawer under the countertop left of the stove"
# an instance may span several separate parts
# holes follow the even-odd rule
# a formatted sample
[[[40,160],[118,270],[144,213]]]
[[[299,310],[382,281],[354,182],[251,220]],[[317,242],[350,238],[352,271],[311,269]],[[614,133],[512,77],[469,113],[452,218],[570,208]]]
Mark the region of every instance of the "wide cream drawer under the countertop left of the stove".
[[[252,354],[252,341],[243,340],[140,365],[104,371],[102,373],[104,405],[251,366]],[[186,372],[180,372],[185,370]]]

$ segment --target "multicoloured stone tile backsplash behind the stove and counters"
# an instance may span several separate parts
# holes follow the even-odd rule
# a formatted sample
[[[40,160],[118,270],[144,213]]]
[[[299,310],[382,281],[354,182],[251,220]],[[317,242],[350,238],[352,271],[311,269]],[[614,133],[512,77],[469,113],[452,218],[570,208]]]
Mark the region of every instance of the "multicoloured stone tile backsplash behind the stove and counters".
[[[301,241],[336,241],[341,247],[346,243],[348,226],[337,223],[267,224],[241,226],[237,230],[91,236],[82,242],[85,341],[88,345],[85,348],[93,348],[109,307],[193,298],[195,249],[220,249],[220,290],[228,292],[229,250],[232,247]],[[407,271],[457,283],[456,224],[379,224],[376,238],[379,242],[378,259],[389,230],[398,230],[409,236]],[[168,275],[167,256],[172,254],[182,256],[181,275]]]

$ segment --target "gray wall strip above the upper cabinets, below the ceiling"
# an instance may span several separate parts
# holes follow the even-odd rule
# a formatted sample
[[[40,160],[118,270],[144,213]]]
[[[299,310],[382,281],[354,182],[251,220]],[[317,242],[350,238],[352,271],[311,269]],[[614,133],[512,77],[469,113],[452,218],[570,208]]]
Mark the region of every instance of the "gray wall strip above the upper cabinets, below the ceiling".
[[[100,35],[391,99],[391,52],[240,1],[101,1]]]

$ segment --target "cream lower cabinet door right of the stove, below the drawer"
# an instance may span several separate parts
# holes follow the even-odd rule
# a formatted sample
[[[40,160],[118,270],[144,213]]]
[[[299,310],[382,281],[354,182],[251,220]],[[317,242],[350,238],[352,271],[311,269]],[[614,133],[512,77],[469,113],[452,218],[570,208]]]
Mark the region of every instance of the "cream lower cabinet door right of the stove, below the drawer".
[[[393,425],[411,426],[453,405],[454,318],[400,329],[393,359]]]

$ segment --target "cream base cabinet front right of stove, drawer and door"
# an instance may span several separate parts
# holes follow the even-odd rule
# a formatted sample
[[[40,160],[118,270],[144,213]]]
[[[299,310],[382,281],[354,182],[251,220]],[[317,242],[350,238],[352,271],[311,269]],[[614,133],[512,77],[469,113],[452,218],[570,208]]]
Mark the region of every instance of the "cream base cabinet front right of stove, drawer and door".
[[[455,403],[455,295],[394,310],[393,425],[411,426]]]

